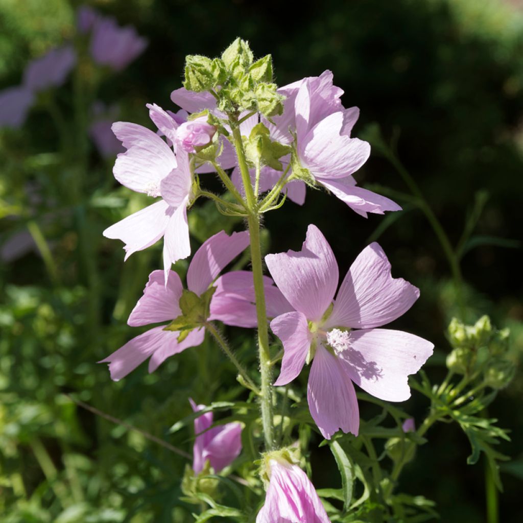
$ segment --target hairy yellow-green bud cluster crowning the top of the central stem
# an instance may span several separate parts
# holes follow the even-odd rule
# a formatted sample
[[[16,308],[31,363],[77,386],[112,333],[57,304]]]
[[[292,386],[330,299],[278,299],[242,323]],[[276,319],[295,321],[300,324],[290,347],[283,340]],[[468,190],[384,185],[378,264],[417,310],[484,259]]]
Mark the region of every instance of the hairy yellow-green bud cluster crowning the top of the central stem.
[[[283,96],[272,83],[271,55],[254,61],[248,42],[241,38],[236,38],[221,58],[187,56],[184,87],[195,93],[213,93],[218,109],[228,114],[257,111],[270,118],[283,112]]]

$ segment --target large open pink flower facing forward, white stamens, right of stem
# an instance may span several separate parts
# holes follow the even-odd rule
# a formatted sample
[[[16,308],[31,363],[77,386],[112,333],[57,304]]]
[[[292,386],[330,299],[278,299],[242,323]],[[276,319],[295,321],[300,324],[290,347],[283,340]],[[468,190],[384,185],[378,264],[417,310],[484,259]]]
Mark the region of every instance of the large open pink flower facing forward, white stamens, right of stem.
[[[326,439],[338,428],[358,434],[353,382],[382,400],[410,397],[407,376],[419,370],[434,345],[413,334],[376,328],[400,317],[419,296],[416,287],[392,278],[389,260],[377,243],[358,255],[334,304],[338,266],[316,226],[309,225],[301,251],[269,254],[265,261],[295,309],[270,324],[285,350],[275,385],[292,381],[314,358],[309,410]]]

